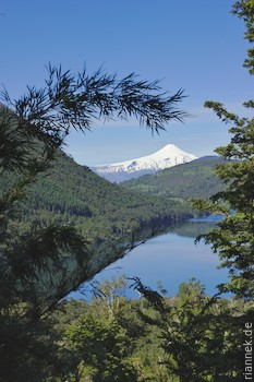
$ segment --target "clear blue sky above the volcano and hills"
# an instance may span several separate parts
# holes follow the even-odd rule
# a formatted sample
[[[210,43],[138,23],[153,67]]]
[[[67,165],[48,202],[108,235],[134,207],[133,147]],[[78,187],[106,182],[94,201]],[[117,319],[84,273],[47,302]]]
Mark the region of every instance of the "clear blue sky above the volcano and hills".
[[[196,156],[210,155],[229,141],[227,126],[207,99],[231,111],[252,97],[242,68],[244,24],[229,0],[2,0],[0,83],[17,98],[26,85],[43,86],[45,64],[92,73],[100,65],[124,76],[161,80],[164,89],[185,89],[179,104],[193,117],[171,122],[152,136],[135,120],[96,123],[85,135],[72,133],[66,152],[88,166],[152,154],[168,143]]]

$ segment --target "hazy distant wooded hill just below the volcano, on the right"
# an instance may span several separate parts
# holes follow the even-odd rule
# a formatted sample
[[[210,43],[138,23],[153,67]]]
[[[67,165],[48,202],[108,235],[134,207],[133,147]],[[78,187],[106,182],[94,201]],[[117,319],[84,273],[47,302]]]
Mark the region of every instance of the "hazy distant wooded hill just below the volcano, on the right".
[[[121,186],[141,193],[169,198],[205,198],[223,189],[220,179],[214,174],[215,167],[225,160],[206,156],[188,164],[178,165],[155,175],[122,182]]]

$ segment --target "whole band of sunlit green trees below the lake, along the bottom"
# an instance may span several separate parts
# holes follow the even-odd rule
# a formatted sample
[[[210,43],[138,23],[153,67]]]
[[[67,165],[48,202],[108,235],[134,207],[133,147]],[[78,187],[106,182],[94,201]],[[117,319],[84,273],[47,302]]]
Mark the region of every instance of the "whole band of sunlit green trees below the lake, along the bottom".
[[[142,298],[126,298],[131,285]],[[160,294],[121,276],[97,284],[90,302],[61,301],[34,327],[34,354],[20,344],[13,380],[241,382],[243,302],[210,299],[196,279]]]

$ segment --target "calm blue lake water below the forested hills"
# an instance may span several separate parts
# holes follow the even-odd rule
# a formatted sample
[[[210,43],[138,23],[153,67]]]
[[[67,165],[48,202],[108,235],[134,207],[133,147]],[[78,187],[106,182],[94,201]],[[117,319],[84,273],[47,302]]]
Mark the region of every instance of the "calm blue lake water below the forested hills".
[[[160,280],[168,290],[168,296],[178,291],[180,283],[196,277],[206,285],[208,295],[216,293],[216,285],[227,282],[227,270],[218,270],[218,255],[204,242],[194,243],[201,232],[209,230],[217,217],[193,219],[181,226],[170,228],[165,235],[146,241],[135,248],[125,258],[109,265],[95,278],[110,279],[125,274],[128,277],[137,276],[143,284],[156,288]],[[72,295],[73,297],[73,295]],[[74,294],[78,298],[78,293]],[[129,291],[129,297],[137,297]]]

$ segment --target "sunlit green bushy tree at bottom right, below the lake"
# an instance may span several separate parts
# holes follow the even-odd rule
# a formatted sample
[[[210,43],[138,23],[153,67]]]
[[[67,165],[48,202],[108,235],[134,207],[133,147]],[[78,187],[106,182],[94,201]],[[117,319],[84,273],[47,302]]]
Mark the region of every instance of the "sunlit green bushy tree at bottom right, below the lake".
[[[142,283],[137,287],[144,290]],[[242,381],[242,314],[235,313],[237,302],[209,298],[195,279],[181,284],[172,300],[155,293],[144,297],[157,314],[144,309],[140,314],[160,329],[161,363],[169,373],[180,382]]]

